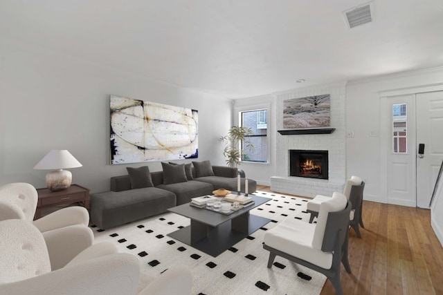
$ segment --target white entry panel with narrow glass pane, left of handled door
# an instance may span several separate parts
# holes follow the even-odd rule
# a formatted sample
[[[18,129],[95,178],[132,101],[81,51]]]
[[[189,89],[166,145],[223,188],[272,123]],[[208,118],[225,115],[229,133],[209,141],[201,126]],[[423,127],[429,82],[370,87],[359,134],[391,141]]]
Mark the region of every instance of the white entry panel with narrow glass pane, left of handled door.
[[[388,97],[387,202],[416,206],[415,95]]]

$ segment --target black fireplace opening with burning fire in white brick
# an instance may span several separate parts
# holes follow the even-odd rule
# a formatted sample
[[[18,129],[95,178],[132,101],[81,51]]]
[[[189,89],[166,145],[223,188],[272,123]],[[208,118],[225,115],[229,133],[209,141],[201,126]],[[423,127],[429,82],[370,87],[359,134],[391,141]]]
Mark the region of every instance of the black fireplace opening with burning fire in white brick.
[[[289,175],[328,179],[327,151],[289,150]]]

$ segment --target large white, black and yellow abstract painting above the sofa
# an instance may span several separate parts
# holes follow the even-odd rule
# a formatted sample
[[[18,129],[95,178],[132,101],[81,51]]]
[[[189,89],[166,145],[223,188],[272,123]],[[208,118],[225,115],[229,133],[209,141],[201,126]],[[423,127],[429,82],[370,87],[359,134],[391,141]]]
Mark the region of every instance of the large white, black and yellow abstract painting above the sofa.
[[[198,112],[111,95],[111,164],[198,156]]]

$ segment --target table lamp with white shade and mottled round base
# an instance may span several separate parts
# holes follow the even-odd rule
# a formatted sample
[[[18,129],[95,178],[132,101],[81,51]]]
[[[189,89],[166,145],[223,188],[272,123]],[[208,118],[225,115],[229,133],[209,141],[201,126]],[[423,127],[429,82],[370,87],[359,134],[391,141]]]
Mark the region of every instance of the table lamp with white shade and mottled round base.
[[[82,164],[69,153],[64,150],[52,150],[44,156],[34,169],[48,169],[54,171],[46,174],[46,187],[51,191],[62,191],[71,186],[72,173],[66,168],[81,167]]]

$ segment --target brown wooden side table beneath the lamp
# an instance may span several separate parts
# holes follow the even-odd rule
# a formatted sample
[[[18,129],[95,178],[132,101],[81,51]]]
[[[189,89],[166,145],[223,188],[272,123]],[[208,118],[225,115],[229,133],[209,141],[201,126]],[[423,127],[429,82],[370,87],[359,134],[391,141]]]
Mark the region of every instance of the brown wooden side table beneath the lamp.
[[[50,191],[49,189],[37,189],[39,200],[35,210],[34,219],[42,217],[42,209],[60,204],[80,203],[89,210],[89,189],[71,184],[71,187],[63,191]]]

